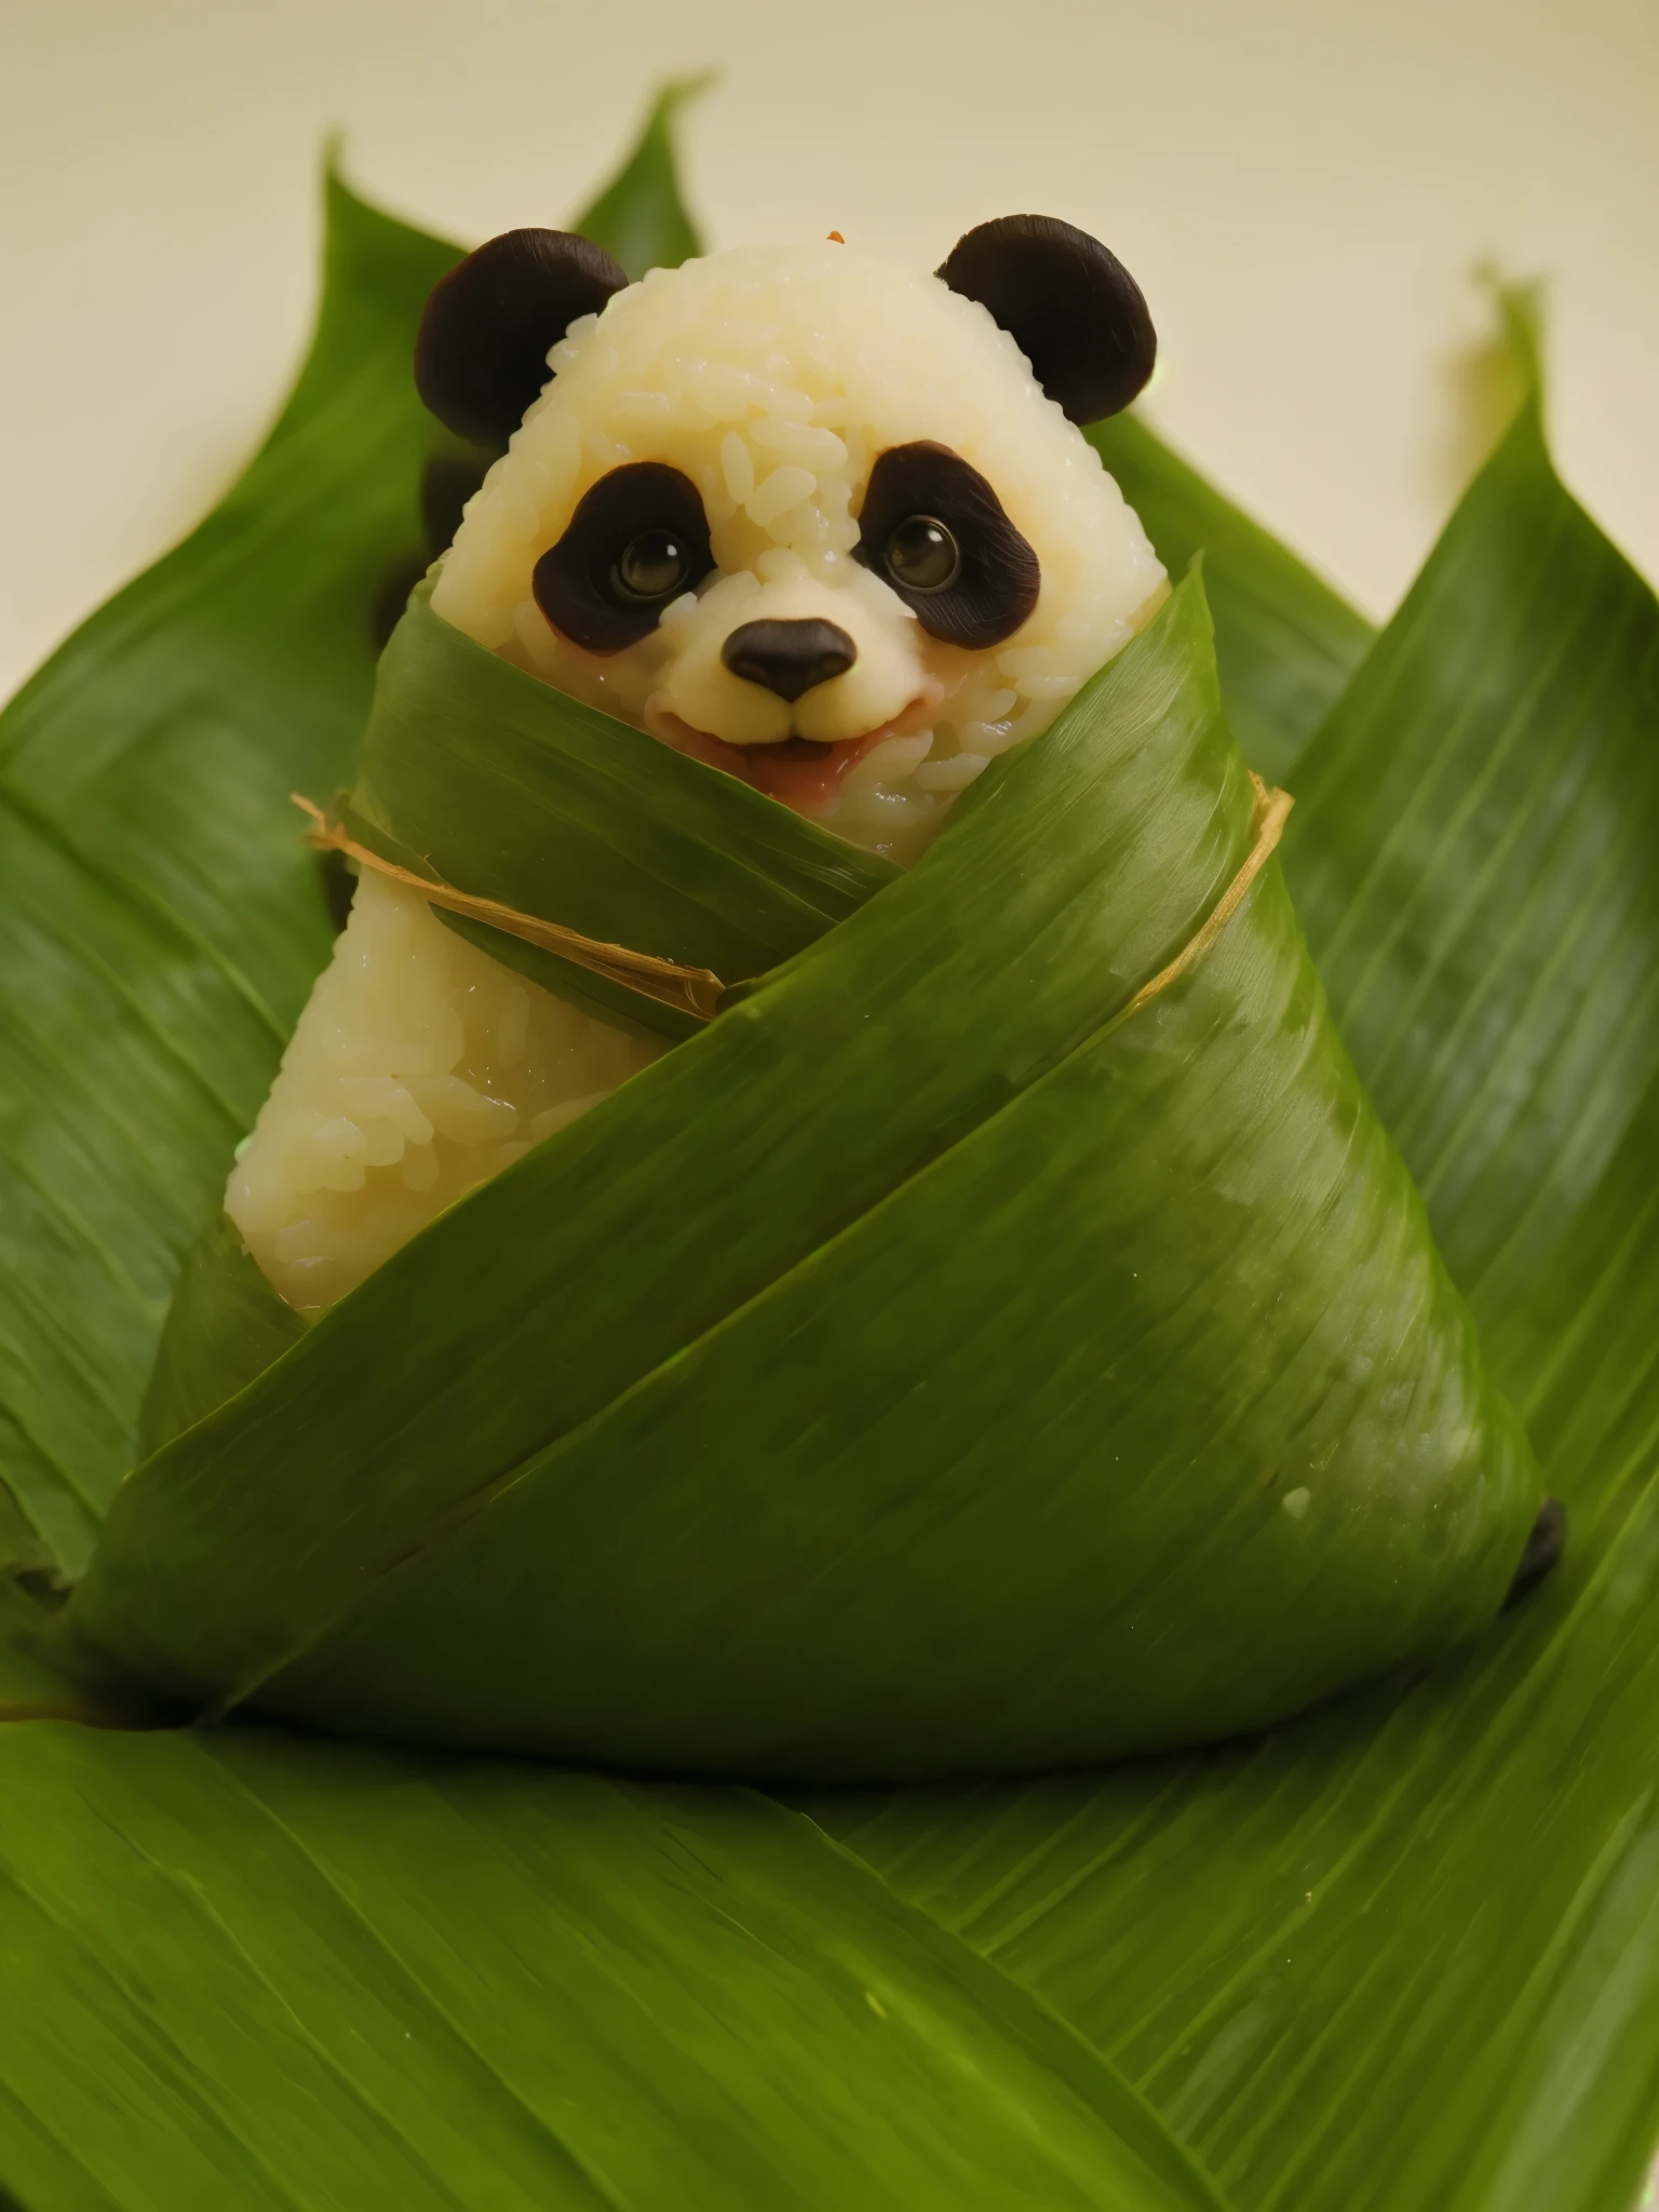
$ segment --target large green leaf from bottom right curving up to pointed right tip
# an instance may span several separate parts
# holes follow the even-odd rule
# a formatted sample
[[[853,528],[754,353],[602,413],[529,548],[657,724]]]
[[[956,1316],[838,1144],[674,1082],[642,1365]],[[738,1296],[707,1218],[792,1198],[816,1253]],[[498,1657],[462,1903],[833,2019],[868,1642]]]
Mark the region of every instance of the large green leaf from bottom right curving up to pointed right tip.
[[[1336,1006],[1575,1540],[1225,1759],[836,1816],[1241,2205],[1606,2212],[1659,2110],[1659,606],[1528,409],[1303,765]]]

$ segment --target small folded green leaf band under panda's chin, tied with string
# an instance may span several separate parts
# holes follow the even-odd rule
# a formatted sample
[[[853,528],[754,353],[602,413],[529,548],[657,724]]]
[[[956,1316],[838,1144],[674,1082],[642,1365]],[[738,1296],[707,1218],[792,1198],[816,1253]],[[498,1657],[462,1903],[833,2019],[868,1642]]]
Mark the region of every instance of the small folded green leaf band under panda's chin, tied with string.
[[[380,661],[349,818],[418,874],[728,984],[787,960],[898,876],[487,653],[431,613],[429,584]],[[484,922],[442,918],[586,1011],[679,1037],[701,1026]]]

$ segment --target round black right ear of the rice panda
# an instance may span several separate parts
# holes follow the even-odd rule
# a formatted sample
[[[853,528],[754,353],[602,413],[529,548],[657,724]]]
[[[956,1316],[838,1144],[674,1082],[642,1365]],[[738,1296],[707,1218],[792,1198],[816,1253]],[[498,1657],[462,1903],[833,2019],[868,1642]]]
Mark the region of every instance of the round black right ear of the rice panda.
[[[1009,332],[1073,422],[1135,398],[1157,361],[1141,288],[1099,239],[1053,215],[1004,215],[958,239],[938,270]]]

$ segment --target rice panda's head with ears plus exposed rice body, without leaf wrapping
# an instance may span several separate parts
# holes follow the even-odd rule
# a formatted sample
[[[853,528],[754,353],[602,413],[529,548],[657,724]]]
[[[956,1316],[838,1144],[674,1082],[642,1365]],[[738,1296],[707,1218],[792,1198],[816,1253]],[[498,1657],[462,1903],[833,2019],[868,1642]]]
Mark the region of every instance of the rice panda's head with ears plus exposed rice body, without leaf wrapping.
[[[1079,425],[1146,303],[1046,217],[936,276],[841,239],[630,285],[515,230],[434,290],[427,405],[507,445],[431,593],[478,644],[905,863],[1168,591]],[[226,1206],[321,1310],[655,1057],[365,876]]]

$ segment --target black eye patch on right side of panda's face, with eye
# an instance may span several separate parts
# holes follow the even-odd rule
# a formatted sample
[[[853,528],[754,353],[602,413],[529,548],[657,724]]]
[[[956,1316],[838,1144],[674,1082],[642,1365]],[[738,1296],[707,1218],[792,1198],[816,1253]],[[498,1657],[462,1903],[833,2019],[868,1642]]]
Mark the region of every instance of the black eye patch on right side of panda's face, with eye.
[[[929,637],[984,650],[1013,637],[1042,566],[978,469],[929,438],[869,471],[854,560],[891,584]]]

